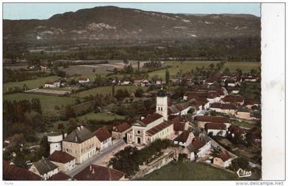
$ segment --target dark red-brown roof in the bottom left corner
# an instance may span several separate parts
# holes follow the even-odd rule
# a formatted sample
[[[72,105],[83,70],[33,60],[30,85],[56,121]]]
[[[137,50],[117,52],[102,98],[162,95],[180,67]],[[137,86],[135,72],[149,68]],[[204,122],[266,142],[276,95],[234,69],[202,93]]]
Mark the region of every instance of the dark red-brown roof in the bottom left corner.
[[[41,177],[16,165],[10,165],[9,161],[3,160],[3,180],[6,181],[40,181]]]

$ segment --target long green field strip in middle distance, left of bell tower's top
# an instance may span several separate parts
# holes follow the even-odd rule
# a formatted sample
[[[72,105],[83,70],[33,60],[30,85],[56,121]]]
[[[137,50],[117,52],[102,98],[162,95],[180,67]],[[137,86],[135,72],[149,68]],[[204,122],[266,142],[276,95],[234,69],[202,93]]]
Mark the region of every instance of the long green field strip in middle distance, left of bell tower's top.
[[[117,92],[117,90],[122,89],[125,90],[127,89],[129,93],[134,92],[137,88],[137,86],[134,85],[129,85],[129,86],[115,86],[115,93]],[[147,88],[143,88],[141,87],[144,91],[147,90]],[[90,95],[95,95],[95,94],[112,94],[112,86],[106,86],[106,87],[101,87],[101,88],[92,88],[90,90],[84,90],[82,92],[76,92],[75,94],[72,94],[72,96],[74,97],[80,97],[80,98],[84,98],[86,96],[90,96]]]

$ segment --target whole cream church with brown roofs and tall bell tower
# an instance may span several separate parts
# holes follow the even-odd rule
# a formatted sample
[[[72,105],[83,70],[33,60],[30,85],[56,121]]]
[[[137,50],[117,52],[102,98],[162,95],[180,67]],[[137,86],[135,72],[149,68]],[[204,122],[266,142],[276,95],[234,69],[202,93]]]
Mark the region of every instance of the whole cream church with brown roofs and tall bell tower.
[[[132,130],[127,134],[128,144],[150,144],[156,139],[171,139],[173,122],[168,121],[167,111],[167,94],[160,90],[156,94],[156,113],[132,124]]]

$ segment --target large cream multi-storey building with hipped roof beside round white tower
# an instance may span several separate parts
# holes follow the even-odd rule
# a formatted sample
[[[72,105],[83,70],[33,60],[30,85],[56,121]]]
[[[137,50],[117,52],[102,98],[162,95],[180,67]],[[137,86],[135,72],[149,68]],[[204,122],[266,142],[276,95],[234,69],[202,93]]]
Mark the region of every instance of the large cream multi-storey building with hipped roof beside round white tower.
[[[62,141],[62,151],[76,158],[81,164],[96,154],[96,137],[83,126],[74,129]]]

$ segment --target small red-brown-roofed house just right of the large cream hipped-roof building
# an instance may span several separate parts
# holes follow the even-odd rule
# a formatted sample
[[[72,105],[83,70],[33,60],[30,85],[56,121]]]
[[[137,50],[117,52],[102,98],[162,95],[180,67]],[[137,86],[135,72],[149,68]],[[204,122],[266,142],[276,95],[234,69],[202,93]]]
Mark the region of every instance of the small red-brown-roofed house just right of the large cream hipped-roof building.
[[[96,136],[96,148],[100,151],[112,146],[112,135],[105,126],[97,129],[93,134]]]

